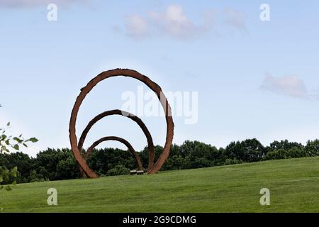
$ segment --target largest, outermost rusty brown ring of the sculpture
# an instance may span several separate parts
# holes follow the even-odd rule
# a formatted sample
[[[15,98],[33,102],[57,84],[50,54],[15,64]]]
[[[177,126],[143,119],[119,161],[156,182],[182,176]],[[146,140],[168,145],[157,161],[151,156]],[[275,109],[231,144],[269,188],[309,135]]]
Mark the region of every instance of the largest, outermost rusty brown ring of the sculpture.
[[[147,171],[149,174],[154,174],[164,164],[164,162],[167,160],[167,157],[169,156],[169,149],[171,148],[172,145],[172,140],[174,136],[174,122],[172,118],[172,110],[171,107],[169,106],[169,103],[164,96],[161,87],[159,87],[158,84],[155,82],[152,82],[152,80],[145,75],[140,74],[139,72],[136,72],[134,70],[128,70],[128,69],[116,69],[116,70],[108,70],[106,72],[101,72],[101,74],[97,75],[94,79],[91,79],[91,81],[86,84],[86,87],[83,87],[81,89],[81,92],[79,96],[77,96],[77,100],[75,101],[75,104],[72,109],[72,114],[71,118],[69,121],[69,140],[71,143],[71,148],[74,153],[74,157],[79,163],[79,165],[82,167],[84,172],[88,177],[91,178],[97,178],[99,175],[96,174],[89,165],[87,165],[86,160],[84,160],[84,157],[82,157],[79,148],[77,147],[77,135],[76,135],[76,122],[77,122],[77,114],[79,113],[79,107],[82,104],[82,101],[85,99],[86,94],[89,94],[91,92],[91,89],[93,89],[96,84],[101,82],[103,79],[107,79],[109,77],[118,77],[118,76],[123,76],[123,77],[132,77],[135,79],[140,80],[141,82],[145,83],[147,87],[152,89],[153,92],[157,95],[157,98],[159,99],[160,103],[162,104],[162,107],[164,109],[164,114],[166,118],[166,123],[167,123],[167,133],[166,133],[166,141],[164,144],[164,150],[161,155],[159,155],[159,158],[155,165],[150,167],[150,169]]]

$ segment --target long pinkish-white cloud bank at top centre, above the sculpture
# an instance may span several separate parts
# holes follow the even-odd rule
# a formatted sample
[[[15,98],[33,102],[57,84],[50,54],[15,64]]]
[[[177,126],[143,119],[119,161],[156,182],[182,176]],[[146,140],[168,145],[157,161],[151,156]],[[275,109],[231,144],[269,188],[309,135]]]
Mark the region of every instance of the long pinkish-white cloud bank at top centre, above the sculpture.
[[[145,16],[134,14],[125,18],[126,34],[131,38],[159,37],[167,35],[177,39],[196,38],[218,26],[246,30],[245,14],[235,9],[227,8],[224,11],[207,9],[201,12],[202,22],[194,23],[186,15],[179,4],[171,4],[164,11],[149,11]]]

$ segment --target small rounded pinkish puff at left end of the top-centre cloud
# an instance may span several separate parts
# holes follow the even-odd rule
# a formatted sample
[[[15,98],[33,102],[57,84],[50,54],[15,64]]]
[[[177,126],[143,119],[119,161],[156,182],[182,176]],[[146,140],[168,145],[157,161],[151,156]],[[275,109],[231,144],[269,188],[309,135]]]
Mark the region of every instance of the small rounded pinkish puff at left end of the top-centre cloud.
[[[137,14],[126,17],[125,28],[127,34],[133,38],[147,36],[147,27],[147,21]]]

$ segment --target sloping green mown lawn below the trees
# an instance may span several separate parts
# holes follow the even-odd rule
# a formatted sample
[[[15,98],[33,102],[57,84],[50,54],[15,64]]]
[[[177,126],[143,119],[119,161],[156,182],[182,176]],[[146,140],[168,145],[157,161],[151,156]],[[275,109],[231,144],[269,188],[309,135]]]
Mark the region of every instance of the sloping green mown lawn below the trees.
[[[47,189],[57,189],[57,206]],[[270,190],[261,206],[260,189]],[[0,191],[2,212],[319,212],[319,157],[157,175],[19,184]]]

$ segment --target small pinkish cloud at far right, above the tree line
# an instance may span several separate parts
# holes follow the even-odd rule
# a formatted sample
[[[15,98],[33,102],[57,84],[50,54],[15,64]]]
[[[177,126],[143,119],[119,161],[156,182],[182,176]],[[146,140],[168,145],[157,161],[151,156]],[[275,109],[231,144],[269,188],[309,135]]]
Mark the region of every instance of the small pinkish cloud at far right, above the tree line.
[[[277,94],[291,96],[293,98],[308,98],[307,87],[297,76],[273,77],[270,74],[266,74],[261,88]]]

